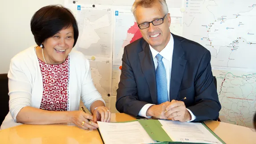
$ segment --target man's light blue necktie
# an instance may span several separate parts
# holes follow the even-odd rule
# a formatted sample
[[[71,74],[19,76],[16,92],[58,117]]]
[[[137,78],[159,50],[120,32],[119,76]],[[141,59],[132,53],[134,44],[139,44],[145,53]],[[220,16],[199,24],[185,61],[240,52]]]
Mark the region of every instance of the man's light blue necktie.
[[[157,93],[157,104],[162,104],[168,101],[168,90],[167,90],[167,78],[162,61],[163,56],[160,54],[156,55],[157,68],[156,68],[156,93]]]

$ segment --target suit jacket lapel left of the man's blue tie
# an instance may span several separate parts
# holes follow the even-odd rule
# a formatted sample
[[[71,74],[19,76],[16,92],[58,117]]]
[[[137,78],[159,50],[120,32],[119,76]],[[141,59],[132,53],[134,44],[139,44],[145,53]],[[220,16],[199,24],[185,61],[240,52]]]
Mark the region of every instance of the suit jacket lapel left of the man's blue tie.
[[[153,104],[157,104],[155,64],[149,45],[146,41],[142,44],[142,48],[143,51],[139,52],[141,69],[148,83],[152,102]]]

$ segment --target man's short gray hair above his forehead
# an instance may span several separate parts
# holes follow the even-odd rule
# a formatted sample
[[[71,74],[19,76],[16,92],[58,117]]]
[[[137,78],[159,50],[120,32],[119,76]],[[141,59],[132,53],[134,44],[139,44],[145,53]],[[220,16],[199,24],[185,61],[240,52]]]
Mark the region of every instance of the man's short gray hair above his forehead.
[[[168,14],[168,6],[165,0],[135,0],[132,5],[132,13],[135,16],[137,6],[142,6],[143,8],[151,8],[156,2],[162,5],[162,9],[165,14]]]

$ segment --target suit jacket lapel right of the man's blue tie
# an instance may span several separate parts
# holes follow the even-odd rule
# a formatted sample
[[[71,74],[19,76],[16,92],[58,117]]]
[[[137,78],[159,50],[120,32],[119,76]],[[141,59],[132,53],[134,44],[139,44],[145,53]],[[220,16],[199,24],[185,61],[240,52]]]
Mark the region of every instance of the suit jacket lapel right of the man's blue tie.
[[[170,101],[176,100],[180,90],[180,84],[184,74],[187,60],[182,56],[184,51],[180,43],[179,37],[172,35],[174,40],[173,54],[172,54],[172,72],[170,81]]]

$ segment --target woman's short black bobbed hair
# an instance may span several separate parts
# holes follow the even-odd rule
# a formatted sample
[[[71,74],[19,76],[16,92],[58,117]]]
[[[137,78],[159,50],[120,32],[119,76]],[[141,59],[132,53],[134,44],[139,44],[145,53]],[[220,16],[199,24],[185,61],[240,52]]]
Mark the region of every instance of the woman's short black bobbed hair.
[[[75,17],[72,12],[61,5],[48,5],[40,8],[31,19],[30,27],[34,35],[37,45],[40,45],[44,40],[54,36],[62,29],[74,29],[74,45],[78,39],[78,27]]]

